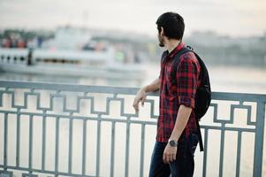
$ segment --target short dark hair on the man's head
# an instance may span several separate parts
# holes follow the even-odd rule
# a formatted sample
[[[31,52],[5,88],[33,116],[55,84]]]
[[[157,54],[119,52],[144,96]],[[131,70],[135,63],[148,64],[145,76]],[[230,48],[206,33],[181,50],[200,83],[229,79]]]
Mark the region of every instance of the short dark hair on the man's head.
[[[161,27],[163,27],[164,35],[168,38],[178,40],[183,38],[185,23],[178,13],[165,12],[156,20],[156,24],[159,33],[161,33]]]

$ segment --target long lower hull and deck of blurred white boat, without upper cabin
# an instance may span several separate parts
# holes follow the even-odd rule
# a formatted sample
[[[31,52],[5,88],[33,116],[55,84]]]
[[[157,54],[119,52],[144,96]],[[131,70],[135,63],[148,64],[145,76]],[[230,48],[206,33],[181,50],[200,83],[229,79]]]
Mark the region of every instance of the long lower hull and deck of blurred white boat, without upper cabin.
[[[141,65],[115,62],[113,55],[112,51],[0,49],[0,70],[141,80],[144,74]]]

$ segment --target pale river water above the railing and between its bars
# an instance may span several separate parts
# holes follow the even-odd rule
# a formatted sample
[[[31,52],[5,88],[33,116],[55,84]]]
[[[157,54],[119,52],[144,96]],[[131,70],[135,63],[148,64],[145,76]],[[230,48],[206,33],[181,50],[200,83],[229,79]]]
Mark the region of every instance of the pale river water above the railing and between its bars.
[[[0,80],[8,80],[8,81],[48,81],[48,82],[64,82],[64,83],[75,83],[75,84],[86,84],[86,85],[98,85],[98,86],[118,86],[118,87],[141,87],[148,84],[150,81],[156,79],[159,76],[159,66],[155,64],[146,65],[147,74],[143,78],[143,81],[118,81],[118,80],[104,80],[97,78],[79,78],[79,77],[55,77],[55,76],[45,76],[45,75],[21,75],[19,73],[1,73]],[[258,94],[266,94],[266,70],[257,69],[257,68],[245,68],[245,67],[228,67],[228,66],[209,66],[209,75],[212,83],[213,91],[220,92],[241,92],[241,93],[258,93]],[[49,96],[49,93],[43,93]],[[23,97],[19,99],[22,100]],[[97,109],[104,110],[104,96],[99,96],[99,101],[96,102],[95,107]],[[21,101],[20,100],[20,101]],[[128,108],[128,112],[133,112],[133,108],[131,107],[133,102],[133,96],[129,96],[126,98],[128,103],[125,103],[125,107]],[[19,100],[17,100],[19,101]],[[45,101],[43,99],[43,104],[47,104],[48,100]],[[72,103],[69,103],[72,104]],[[81,104],[81,111],[86,112],[87,104]],[[112,104],[111,110],[118,110],[119,105]],[[158,110],[158,104],[155,105],[156,110]],[[30,108],[34,108],[34,105],[30,105]],[[118,108],[118,109],[117,109]],[[226,108],[224,108],[224,112],[219,112],[221,116],[228,117],[228,110],[225,112]],[[156,111],[156,114],[158,112]],[[239,117],[243,116],[245,112],[239,112]],[[114,111],[111,112],[111,115],[114,117],[118,117],[119,113]],[[148,104],[141,108],[140,118],[146,119],[148,118],[149,110]],[[29,119],[27,116],[21,118],[21,132],[20,137],[28,137],[28,131],[24,131],[28,129]],[[3,130],[4,119],[3,115],[0,116],[0,129]],[[47,153],[47,161],[46,161],[46,169],[53,170],[54,167],[54,151],[55,151],[55,123],[56,119],[49,118],[47,127],[49,131],[47,132],[47,139],[49,140],[49,148],[46,149]],[[205,120],[206,124],[211,124],[211,122],[207,119]],[[243,124],[243,122],[239,121],[238,124]],[[2,125],[2,126],[1,126]],[[72,171],[80,173],[81,165],[81,142],[82,142],[82,122],[80,120],[73,121],[73,156],[72,160],[75,163],[72,163]],[[103,123],[102,125],[102,135],[101,135],[101,144],[105,144],[101,149],[101,166],[100,166],[100,175],[109,176],[110,173],[110,123]],[[67,119],[60,119],[60,132],[59,132],[59,170],[66,171],[68,165],[68,128],[69,122]],[[10,115],[9,117],[9,147],[15,147],[16,144],[16,116]],[[87,129],[89,130],[89,134],[87,135],[87,142],[91,145],[87,145],[87,174],[95,173],[95,143],[96,143],[96,122],[88,121]],[[0,132],[0,163],[3,163],[3,131]],[[40,135],[42,133],[42,119],[34,119],[34,167],[40,168],[41,166],[41,150],[42,146],[40,141]],[[218,173],[218,165],[219,165],[219,139],[220,137],[219,131],[210,131],[209,132],[209,142],[215,145],[214,149],[209,149],[208,160],[211,163],[207,164],[207,175],[208,176],[217,176]],[[116,149],[115,149],[115,165],[114,171],[115,176],[124,176],[124,166],[125,166],[125,124],[118,123],[116,127]],[[145,158],[144,158],[144,176],[148,175],[148,165],[149,159],[151,155],[151,150],[153,148],[155,142],[156,135],[156,127],[148,126],[146,130],[146,141],[145,141]],[[228,138],[230,137],[230,138]],[[264,135],[265,140],[265,135]],[[28,139],[21,139],[21,153],[20,164],[22,166],[27,166],[27,149],[28,149]],[[231,144],[235,144],[237,142],[237,137],[232,132],[225,133],[225,142],[224,142],[224,176],[235,176],[234,166],[235,166],[235,154],[236,150],[231,148]],[[247,142],[254,142],[254,135],[243,135],[243,144],[252,144]],[[264,141],[265,144],[266,141]],[[141,158],[141,126],[140,125],[132,125],[130,132],[130,150],[129,150],[129,175],[130,176],[139,176],[140,171],[140,158]],[[264,146],[265,147],[265,146]],[[242,147],[242,156],[240,163],[240,176],[250,176],[253,168],[253,146],[245,145]],[[243,154],[245,152],[245,154]],[[264,150],[265,152],[265,150]],[[8,150],[9,163],[14,165],[15,163],[15,149],[10,148]],[[202,157],[202,153],[196,150],[195,159],[195,176],[201,176],[201,164],[202,162],[199,160]],[[197,161],[198,159],[198,161]],[[265,153],[263,158],[263,172],[266,171],[266,160]],[[122,167],[121,167],[122,166]]]

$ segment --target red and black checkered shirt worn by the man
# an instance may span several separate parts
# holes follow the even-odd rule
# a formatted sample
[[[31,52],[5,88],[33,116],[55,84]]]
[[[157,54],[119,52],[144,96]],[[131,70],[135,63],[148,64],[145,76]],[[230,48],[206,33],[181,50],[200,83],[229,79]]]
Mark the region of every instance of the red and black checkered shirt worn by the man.
[[[179,106],[184,104],[193,108],[186,127],[181,137],[187,137],[196,131],[196,119],[194,114],[194,97],[197,87],[200,85],[201,65],[193,52],[186,52],[179,58],[177,66],[176,84],[171,81],[173,72],[172,61],[179,50],[184,47],[181,42],[171,53],[163,52],[160,73],[160,113],[157,122],[156,141],[168,142],[179,112]],[[182,138],[179,141],[182,141]]]

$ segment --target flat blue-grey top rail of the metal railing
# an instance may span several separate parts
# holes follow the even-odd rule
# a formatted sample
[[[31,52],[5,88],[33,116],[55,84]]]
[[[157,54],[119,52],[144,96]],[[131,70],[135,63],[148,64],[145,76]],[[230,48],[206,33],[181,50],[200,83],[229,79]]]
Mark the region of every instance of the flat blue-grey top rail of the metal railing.
[[[29,85],[30,83],[30,85]],[[57,91],[80,91],[90,93],[110,93],[110,94],[136,94],[138,88],[110,87],[110,86],[92,86],[68,83],[49,83],[35,81],[0,81],[0,87],[18,88],[18,89],[51,89]],[[158,96],[158,92],[148,93],[148,96]],[[260,101],[266,103],[266,95],[253,93],[233,93],[233,92],[212,92],[212,99],[218,100],[236,100],[236,101]]]

